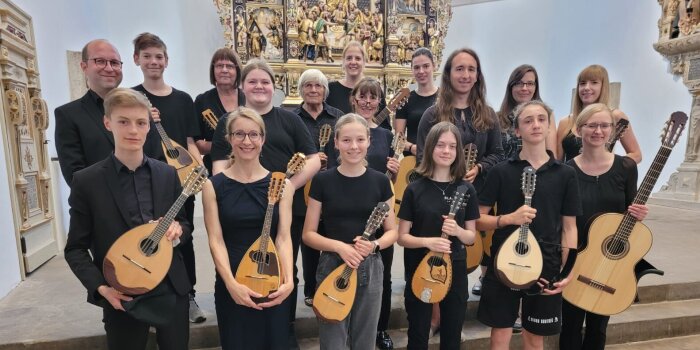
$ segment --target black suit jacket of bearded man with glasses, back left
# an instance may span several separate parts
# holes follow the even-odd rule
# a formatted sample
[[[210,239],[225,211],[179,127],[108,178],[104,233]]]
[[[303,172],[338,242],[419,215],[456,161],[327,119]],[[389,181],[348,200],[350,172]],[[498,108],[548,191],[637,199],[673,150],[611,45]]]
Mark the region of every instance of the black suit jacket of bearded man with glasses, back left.
[[[114,151],[114,136],[104,126],[104,114],[88,91],[83,97],[56,108],[54,133],[58,162],[66,183],[70,186],[76,171],[89,167]],[[144,152],[164,160],[160,137],[151,123]]]

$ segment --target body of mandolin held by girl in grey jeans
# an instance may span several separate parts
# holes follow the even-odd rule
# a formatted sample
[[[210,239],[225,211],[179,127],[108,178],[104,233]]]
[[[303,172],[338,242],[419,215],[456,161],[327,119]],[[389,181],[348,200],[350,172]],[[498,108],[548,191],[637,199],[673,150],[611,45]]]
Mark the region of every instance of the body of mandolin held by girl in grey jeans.
[[[328,274],[314,294],[314,313],[326,322],[337,323],[344,320],[355,303],[357,270],[351,269],[348,277],[344,279],[342,277],[346,268],[347,265],[341,264]]]

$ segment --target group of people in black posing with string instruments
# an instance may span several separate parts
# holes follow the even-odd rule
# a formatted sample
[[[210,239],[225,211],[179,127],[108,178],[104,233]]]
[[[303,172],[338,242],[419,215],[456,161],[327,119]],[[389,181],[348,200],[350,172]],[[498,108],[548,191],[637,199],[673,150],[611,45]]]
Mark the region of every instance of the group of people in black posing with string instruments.
[[[175,169],[162,162],[162,135],[154,123],[201,159],[211,176],[203,186],[202,205],[216,266],[214,298],[223,349],[298,347],[299,251],[307,306],[313,304],[316,286],[338,266],[358,271],[349,316],[339,323],[319,319],[321,348],[392,349],[387,329],[395,243],[404,247],[407,285],[428,251],[450,254],[452,283],[441,302],[424,303],[408,287],[404,297],[409,349],[427,349],[438,329],[441,349],[457,349],[469,297],[466,246],[493,230],[493,256],[523,224],[540,242],[542,278],[532,288],[511,289],[485,259],[473,289],[481,296],[476,316],[492,327],[492,348],[507,349],[519,328],[528,349],[541,349],[544,336],[559,333],[562,349],[604,347],[608,318],[562,301],[561,292],[577,250],[585,246],[589,218],[600,211],[628,211],[643,220],[648,212],[644,205],[631,204],[641,161],[632,128],[621,138],[625,155],[606,148],[616,122],[627,116],[607,105],[605,68],[592,65],[581,72],[573,112],[556,127],[534,67],[513,71],[496,112],[486,102],[475,51],[449,55],[438,87],[433,55],[419,48],[411,58],[417,88],[393,120],[378,125],[375,116],[386,106],[383,88],[364,76],[367,53],[355,41],[343,51],[342,79],[329,82],[317,69],[300,76],[303,103],[294,111],[273,106],[274,73],[266,62],[250,59],[243,65],[228,48],[211,59],[214,87],[194,101],[165,83],[167,49],[156,35],[143,33],[134,40],[133,59],[144,82],[119,88],[123,62],[117,49],[106,40],[86,44],[81,68],[89,91],[55,112],[56,148],[71,187],[65,256],[88,301],[103,307],[111,349],[143,349],[150,326],[157,330],[160,348],[186,349],[188,319],[205,319],[195,302],[194,197],[166,233],[168,240],[179,242],[167,278],[157,288],[173,296],[167,299],[168,322],[134,312],[134,303],[160,300],[149,298],[152,292],[122,294],[102,274],[111,244],[130,228],[159,220],[182,189]],[[321,147],[325,125],[333,134]],[[403,154],[417,156],[420,176],[400,198],[398,213],[390,211],[363,239],[377,203],[393,208],[397,199],[391,182],[399,170],[392,145],[398,133],[407,139]],[[463,151],[469,143],[478,150],[471,169]],[[305,166],[285,180],[267,227],[278,252],[281,284],[260,299],[236,280],[235,271],[265,226],[271,173],[285,172],[295,153],[305,154]],[[524,205],[520,190],[527,166],[536,170],[540,184],[531,205]],[[303,187],[309,182],[307,203]],[[448,217],[462,186],[467,200]]]

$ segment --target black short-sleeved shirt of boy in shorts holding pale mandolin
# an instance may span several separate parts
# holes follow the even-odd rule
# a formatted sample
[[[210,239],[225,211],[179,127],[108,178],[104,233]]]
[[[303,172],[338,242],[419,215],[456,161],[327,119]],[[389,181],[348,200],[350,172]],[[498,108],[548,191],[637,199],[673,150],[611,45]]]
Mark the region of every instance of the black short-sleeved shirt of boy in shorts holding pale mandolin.
[[[530,224],[530,230],[542,249],[543,276],[551,278],[559,273],[561,267],[562,216],[578,216],[582,211],[576,171],[555,160],[552,152],[547,153],[549,161],[536,172],[532,207],[537,209],[537,215]],[[494,166],[486,177],[482,191],[479,192],[479,204],[489,207],[497,204],[498,213],[501,215],[520,208],[525,204],[525,196],[521,190],[522,173],[529,165],[527,160],[520,159],[519,154],[516,154],[508,161]],[[519,226],[510,225],[495,231],[491,256],[495,256],[503,241],[518,228]]]

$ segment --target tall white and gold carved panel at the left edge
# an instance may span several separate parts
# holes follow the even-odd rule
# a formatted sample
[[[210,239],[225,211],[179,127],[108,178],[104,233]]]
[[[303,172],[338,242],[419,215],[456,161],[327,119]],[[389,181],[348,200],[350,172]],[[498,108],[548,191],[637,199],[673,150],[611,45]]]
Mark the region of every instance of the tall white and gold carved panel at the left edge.
[[[13,234],[31,272],[57,253],[52,220],[53,193],[46,150],[49,115],[41,98],[32,19],[12,2],[0,1],[0,79],[6,172],[14,222],[0,234]]]

